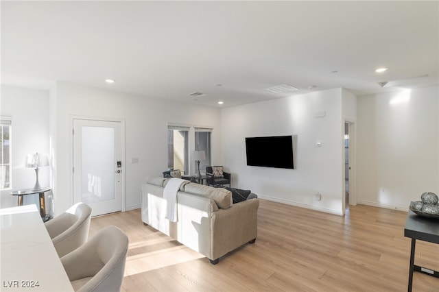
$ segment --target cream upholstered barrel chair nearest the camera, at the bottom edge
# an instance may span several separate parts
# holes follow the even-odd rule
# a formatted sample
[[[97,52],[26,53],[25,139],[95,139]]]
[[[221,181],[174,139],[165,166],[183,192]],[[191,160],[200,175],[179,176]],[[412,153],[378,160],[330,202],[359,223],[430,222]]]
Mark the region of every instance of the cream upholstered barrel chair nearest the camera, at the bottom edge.
[[[75,291],[121,291],[128,236],[108,226],[61,258]]]

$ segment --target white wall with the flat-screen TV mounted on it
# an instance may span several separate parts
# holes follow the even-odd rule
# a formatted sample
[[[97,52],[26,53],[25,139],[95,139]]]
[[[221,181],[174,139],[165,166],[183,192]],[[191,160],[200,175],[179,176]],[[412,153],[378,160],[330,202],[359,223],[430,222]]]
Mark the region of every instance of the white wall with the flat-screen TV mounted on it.
[[[346,95],[346,104],[355,104]],[[355,117],[355,110],[346,112]],[[318,112],[324,117],[316,117]],[[234,187],[259,197],[342,215],[342,88],[222,110],[223,165]],[[297,135],[295,169],[246,165],[245,138]],[[322,147],[315,144],[322,141]],[[322,200],[316,201],[319,191]]]

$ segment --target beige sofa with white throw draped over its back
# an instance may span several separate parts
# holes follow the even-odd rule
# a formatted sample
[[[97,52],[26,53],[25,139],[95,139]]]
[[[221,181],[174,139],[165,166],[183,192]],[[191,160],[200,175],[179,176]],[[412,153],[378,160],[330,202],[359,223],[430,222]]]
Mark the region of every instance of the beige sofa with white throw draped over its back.
[[[163,191],[171,178],[147,178],[142,186],[142,221],[176,241],[200,252],[214,265],[219,257],[257,237],[259,199],[233,204],[232,194],[183,182],[176,194],[177,221],[169,221]],[[174,179],[175,180],[175,179]]]

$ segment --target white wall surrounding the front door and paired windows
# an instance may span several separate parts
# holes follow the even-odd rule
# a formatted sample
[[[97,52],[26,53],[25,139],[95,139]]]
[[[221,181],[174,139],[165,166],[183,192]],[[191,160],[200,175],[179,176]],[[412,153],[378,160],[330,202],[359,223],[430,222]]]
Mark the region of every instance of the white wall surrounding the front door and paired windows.
[[[167,168],[167,123],[213,127],[212,159],[221,161],[220,110],[193,104],[115,93],[58,82],[51,96],[56,121],[51,123],[51,152],[55,154],[54,211],[72,204],[71,119],[73,116],[125,119],[126,209],[139,208],[141,184],[148,175],[162,175]],[[193,137],[192,137],[193,138]],[[189,141],[193,145],[193,141]],[[139,158],[139,163],[131,163]],[[192,162],[191,162],[192,163]]]

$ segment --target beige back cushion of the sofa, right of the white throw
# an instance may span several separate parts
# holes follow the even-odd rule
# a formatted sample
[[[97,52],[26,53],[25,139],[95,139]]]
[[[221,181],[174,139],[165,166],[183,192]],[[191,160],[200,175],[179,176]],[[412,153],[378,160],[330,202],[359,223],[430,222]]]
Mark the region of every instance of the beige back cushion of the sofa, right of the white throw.
[[[227,209],[233,205],[232,193],[224,188],[213,188],[191,182],[185,185],[185,193],[213,199],[218,208]]]

